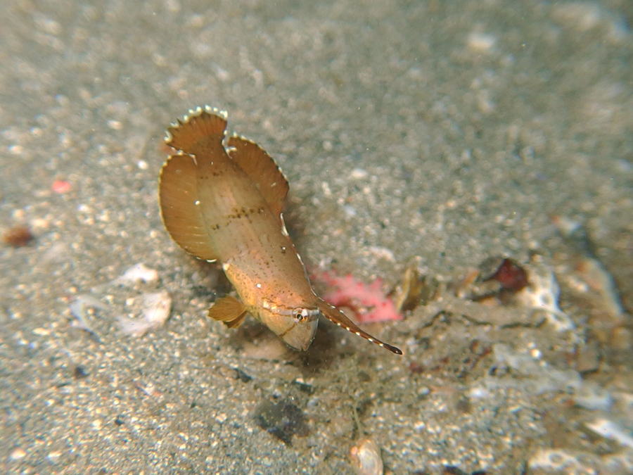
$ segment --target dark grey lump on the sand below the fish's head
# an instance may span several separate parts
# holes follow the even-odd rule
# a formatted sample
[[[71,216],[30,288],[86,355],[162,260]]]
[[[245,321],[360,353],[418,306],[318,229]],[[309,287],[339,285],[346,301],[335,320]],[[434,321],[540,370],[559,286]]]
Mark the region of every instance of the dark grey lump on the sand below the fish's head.
[[[255,424],[286,445],[293,445],[293,436],[305,437],[309,433],[305,415],[290,400],[261,403],[255,410]]]

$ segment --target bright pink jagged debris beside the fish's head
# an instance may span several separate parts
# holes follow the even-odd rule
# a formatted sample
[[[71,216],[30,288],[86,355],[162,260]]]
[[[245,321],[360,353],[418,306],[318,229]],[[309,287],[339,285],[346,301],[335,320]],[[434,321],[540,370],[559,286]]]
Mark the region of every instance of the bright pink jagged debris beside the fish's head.
[[[321,272],[316,279],[331,287],[323,299],[335,307],[347,307],[354,310],[360,323],[388,322],[402,320],[393,303],[385,296],[383,280],[378,278],[371,284],[354,279],[352,274],[338,277],[333,272]]]

